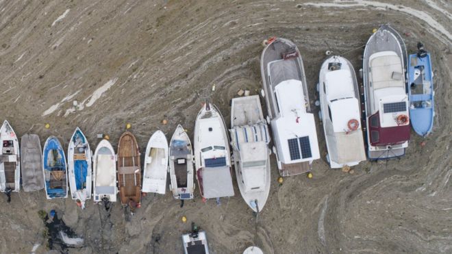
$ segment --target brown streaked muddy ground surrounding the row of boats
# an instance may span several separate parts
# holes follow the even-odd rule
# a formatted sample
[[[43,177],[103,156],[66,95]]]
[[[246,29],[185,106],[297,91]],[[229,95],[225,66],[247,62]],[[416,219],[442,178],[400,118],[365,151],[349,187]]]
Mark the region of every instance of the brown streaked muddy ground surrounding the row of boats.
[[[425,43],[436,86],[434,133],[423,140],[412,132],[400,160],[364,162],[353,175],[330,170],[321,125],[313,179],[286,177],[279,186],[272,157],[258,219],[236,183],[236,196],[221,206],[198,196],[181,208],[167,192],[145,196],[134,216],[119,203],[111,212],[92,202],[81,210],[71,199],[47,201],[43,190],[20,192],[9,204],[0,198],[0,253],[29,253],[36,244],[36,253],[47,251],[40,209],[57,209],[85,239],[70,253],[181,253],[192,221],[207,232],[212,253],[250,245],[264,253],[452,253],[450,1],[1,1],[0,18],[0,119],[18,136],[55,135],[65,147],[77,126],[93,149],[97,134],[116,147],[131,123],[144,151],[157,129],[170,138],[181,123],[192,134],[207,98],[229,124],[229,100],[262,86],[268,36],[297,43],[312,107],[325,51],[360,48],[382,23],[400,32],[410,53]],[[360,55],[344,56],[359,70]]]

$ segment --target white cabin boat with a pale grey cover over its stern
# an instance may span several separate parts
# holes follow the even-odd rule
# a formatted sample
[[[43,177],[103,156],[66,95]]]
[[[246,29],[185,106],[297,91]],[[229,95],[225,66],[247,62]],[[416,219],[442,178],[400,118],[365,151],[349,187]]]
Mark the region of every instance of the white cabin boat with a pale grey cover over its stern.
[[[194,155],[201,196],[204,199],[234,196],[225,121],[218,108],[208,102],[201,107],[194,123]]]

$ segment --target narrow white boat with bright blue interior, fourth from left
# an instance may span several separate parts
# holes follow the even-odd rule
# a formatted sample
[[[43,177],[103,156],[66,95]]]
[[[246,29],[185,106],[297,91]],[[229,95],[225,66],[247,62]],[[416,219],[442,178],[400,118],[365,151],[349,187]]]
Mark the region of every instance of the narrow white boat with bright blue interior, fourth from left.
[[[86,199],[91,199],[92,160],[88,140],[79,127],[69,140],[68,145],[68,181],[71,197],[77,200],[83,209]]]

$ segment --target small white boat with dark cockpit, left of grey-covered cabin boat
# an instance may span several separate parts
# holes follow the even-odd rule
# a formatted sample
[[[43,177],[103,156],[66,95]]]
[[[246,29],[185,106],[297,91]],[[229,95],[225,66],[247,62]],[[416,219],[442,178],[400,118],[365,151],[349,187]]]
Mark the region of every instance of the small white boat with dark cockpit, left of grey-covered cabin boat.
[[[181,125],[177,125],[169,147],[169,186],[175,199],[193,199],[193,149],[190,138]]]

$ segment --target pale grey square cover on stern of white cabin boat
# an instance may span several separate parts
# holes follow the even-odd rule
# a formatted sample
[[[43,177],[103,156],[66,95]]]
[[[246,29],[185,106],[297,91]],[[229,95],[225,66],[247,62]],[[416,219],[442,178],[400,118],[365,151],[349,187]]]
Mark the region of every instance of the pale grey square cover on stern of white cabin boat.
[[[234,196],[231,170],[228,166],[203,168],[203,193],[205,199]]]

